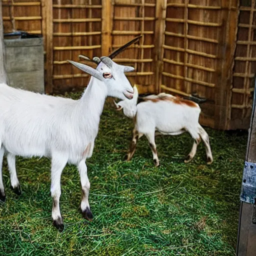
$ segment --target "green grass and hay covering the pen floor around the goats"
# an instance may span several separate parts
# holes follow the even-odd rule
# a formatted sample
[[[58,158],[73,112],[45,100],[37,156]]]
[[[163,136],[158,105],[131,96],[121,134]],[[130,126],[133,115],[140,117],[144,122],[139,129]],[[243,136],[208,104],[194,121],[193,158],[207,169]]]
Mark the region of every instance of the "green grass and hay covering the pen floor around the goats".
[[[133,159],[123,161],[132,126],[106,102],[87,160],[94,219],[82,219],[79,175],[67,165],[61,177],[61,233],[51,225],[50,161],[17,157],[22,188],[17,196],[4,160],[0,255],[235,255],[247,134],[206,128],[211,165],[205,164],[202,143],[193,161],[183,162],[192,145],[188,134],[157,136],[155,168],[144,137]]]

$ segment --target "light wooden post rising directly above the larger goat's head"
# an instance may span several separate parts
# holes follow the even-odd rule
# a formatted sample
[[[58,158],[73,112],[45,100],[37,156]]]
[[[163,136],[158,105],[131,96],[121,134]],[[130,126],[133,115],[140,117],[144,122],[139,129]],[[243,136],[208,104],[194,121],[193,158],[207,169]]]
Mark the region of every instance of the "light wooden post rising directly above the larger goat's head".
[[[102,0],[101,9],[101,56],[108,56],[111,47],[112,31],[112,2],[111,0]]]

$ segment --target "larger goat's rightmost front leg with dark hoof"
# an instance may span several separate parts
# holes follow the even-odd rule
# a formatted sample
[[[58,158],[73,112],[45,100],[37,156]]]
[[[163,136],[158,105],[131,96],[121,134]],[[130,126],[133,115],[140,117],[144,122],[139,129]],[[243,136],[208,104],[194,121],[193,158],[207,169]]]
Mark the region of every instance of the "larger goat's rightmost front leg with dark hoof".
[[[85,161],[80,161],[77,164],[77,169],[80,174],[80,181],[81,181],[81,188],[82,188],[82,199],[81,199],[81,211],[82,216],[88,220],[92,220],[92,213],[90,211],[90,205],[89,205],[89,189],[90,189],[90,182],[87,176],[87,166],[85,164]]]

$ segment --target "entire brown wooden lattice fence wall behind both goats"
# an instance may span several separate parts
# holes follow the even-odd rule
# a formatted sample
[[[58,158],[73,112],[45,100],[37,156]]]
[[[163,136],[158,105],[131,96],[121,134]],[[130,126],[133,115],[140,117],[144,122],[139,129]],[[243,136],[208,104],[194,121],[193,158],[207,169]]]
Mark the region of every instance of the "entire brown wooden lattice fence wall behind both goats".
[[[2,0],[4,31],[42,33],[45,89],[78,90],[88,75],[66,62],[109,52],[140,93],[205,97],[201,123],[247,128],[255,73],[255,0]]]

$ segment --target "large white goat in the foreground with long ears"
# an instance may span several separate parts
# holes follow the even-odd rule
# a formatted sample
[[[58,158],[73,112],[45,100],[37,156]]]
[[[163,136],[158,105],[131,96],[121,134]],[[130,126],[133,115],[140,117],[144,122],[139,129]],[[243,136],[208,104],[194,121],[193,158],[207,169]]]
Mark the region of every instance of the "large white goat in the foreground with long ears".
[[[75,164],[80,174],[82,215],[91,220],[88,202],[90,183],[86,158],[93,151],[100,115],[107,96],[131,98],[133,89],[124,72],[133,67],[118,65],[101,57],[96,69],[69,61],[91,74],[83,95],[78,100],[41,95],[0,84],[0,199],[5,200],[2,182],[2,159],[6,153],[10,182],[20,194],[15,169],[15,155],[51,158],[51,197],[53,224],[63,229],[59,209],[60,176],[66,163]]]

